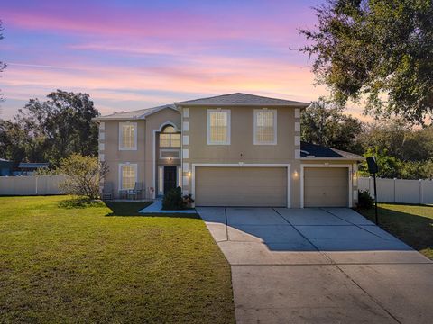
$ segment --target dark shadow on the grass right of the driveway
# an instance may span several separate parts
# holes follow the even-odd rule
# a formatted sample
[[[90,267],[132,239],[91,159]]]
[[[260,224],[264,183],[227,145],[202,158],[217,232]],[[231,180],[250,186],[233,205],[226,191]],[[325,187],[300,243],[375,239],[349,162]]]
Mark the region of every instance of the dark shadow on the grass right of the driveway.
[[[378,207],[379,226],[417,250],[433,249],[433,218],[410,212],[393,211],[386,203]],[[392,203],[395,205],[396,203]],[[433,208],[428,205],[413,205]],[[374,221],[374,209],[357,209],[367,219]]]

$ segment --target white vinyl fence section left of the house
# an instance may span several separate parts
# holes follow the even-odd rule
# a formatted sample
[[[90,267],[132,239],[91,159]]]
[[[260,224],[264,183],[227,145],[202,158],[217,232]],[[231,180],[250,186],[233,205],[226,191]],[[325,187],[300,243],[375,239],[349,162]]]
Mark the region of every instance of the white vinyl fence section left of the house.
[[[64,175],[0,176],[0,195],[62,194]]]

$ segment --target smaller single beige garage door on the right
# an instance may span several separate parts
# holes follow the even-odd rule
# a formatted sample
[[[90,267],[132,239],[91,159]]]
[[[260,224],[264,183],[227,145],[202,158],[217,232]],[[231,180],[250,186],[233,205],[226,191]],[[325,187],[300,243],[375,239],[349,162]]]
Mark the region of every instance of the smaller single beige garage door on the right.
[[[347,207],[347,167],[305,167],[304,207]]]

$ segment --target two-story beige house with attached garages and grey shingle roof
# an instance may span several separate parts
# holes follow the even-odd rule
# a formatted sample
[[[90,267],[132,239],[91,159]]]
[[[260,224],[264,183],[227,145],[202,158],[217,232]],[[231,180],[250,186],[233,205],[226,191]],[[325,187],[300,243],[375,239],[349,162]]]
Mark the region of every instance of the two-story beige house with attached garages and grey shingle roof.
[[[237,93],[98,117],[105,183],[115,198],[180,186],[196,206],[351,207],[364,158],[301,142],[308,106]]]

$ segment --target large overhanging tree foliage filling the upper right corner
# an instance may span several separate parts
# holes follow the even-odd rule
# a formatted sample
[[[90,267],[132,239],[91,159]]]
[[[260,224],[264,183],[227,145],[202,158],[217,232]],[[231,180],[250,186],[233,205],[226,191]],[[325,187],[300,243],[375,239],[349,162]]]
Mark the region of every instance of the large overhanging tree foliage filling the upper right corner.
[[[365,99],[366,112],[423,123],[433,108],[433,2],[327,0],[315,8],[310,44],[318,83],[345,104]]]

